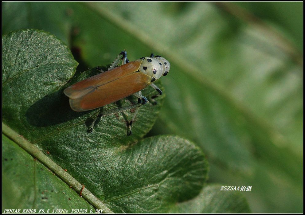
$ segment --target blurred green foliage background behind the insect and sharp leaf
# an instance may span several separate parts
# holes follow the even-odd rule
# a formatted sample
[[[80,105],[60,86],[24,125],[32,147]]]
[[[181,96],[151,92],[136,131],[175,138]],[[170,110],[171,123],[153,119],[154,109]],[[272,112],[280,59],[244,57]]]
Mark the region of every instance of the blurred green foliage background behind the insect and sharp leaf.
[[[3,33],[48,31],[78,71],[156,53],[171,63],[148,136],[206,154],[208,182],[252,186],[254,213],[302,212],[302,2],[4,2]]]

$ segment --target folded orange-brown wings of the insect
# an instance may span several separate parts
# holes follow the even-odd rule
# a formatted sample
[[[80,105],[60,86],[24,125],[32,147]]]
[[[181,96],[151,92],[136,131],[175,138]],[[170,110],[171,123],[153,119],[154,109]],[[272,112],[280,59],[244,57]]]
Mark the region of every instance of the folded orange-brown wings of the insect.
[[[152,77],[137,72],[142,61],[132,61],[66,88],[72,110],[99,108],[146,88]]]

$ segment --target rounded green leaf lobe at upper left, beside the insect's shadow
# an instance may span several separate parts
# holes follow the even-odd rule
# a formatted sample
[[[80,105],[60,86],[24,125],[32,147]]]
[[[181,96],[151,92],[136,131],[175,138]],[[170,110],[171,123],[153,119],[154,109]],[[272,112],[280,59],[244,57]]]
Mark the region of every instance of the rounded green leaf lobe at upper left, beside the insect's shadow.
[[[78,65],[62,41],[35,29],[4,35],[2,62],[2,120],[17,130],[30,129],[28,108],[61,89]]]

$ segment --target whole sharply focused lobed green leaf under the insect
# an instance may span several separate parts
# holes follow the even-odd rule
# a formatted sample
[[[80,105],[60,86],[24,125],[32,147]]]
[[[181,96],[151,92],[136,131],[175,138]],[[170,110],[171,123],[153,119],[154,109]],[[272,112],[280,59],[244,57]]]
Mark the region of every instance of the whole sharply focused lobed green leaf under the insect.
[[[4,35],[2,59],[3,185],[4,195],[13,193],[4,209],[166,213],[200,193],[208,164],[194,143],[178,136],[139,140],[151,129],[164,96],[140,109],[134,135],[127,136],[124,123],[131,111],[102,117],[88,133],[86,121],[98,110],[72,111],[62,91],[96,68],[67,84],[76,61],[59,39],[35,29]],[[150,98],[155,91],[143,94]]]

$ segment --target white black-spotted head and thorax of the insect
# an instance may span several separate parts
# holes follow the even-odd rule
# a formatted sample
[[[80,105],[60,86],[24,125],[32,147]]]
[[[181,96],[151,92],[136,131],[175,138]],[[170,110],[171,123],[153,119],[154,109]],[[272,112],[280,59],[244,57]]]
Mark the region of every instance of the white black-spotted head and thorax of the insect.
[[[144,57],[139,70],[155,79],[159,79],[162,75],[166,76],[170,71],[170,62],[160,56]]]

